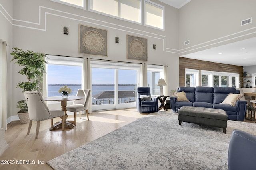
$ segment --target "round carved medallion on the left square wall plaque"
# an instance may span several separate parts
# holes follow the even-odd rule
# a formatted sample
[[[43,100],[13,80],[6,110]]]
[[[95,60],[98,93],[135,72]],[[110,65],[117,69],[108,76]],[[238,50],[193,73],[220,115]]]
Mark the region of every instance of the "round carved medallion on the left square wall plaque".
[[[83,44],[88,51],[97,53],[104,48],[105,40],[98,31],[89,30],[84,33]]]

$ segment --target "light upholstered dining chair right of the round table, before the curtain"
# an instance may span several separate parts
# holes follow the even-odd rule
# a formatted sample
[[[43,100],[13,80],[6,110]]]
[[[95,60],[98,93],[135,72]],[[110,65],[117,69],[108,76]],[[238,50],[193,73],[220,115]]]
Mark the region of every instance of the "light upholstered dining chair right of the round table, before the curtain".
[[[75,100],[73,105],[66,106],[67,111],[74,112],[75,126],[76,126],[76,113],[79,111],[79,118],[81,119],[81,111],[85,111],[87,119],[89,120],[89,97],[90,89],[78,89],[76,96],[84,96],[83,99]]]

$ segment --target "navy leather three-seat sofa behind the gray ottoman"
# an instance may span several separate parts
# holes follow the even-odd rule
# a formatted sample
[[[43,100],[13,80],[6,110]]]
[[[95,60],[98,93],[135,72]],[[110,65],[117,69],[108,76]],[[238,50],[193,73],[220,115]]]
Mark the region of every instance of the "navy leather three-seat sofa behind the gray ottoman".
[[[206,107],[225,110],[229,120],[244,120],[246,101],[238,100],[236,106],[220,104],[228,94],[239,94],[239,90],[233,87],[180,87],[177,92],[185,92],[189,101],[177,101],[171,96],[170,105],[174,113],[178,113],[182,106]]]

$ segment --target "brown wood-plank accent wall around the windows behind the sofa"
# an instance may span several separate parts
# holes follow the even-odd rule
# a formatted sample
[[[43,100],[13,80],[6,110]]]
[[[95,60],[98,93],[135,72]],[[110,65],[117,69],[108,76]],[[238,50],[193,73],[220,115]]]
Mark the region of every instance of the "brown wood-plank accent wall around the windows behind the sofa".
[[[180,57],[180,87],[185,86],[185,68],[199,70],[199,77],[201,77],[201,70],[238,73],[240,87],[242,87],[244,72],[242,66],[214,63],[210,61],[202,61]],[[199,86],[201,86],[201,79],[199,80]]]

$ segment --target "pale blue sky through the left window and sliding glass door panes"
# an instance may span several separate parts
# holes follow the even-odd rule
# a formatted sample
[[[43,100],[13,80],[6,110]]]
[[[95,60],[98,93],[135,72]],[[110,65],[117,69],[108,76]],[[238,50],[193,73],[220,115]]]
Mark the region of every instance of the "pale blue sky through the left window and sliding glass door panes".
[[[119,70],[119,84],[137,84],[136,70]],[[81,84],[80,66],[48,65],[48,84]],[[114,69],[92,68],[92,84],[114,84]]]

